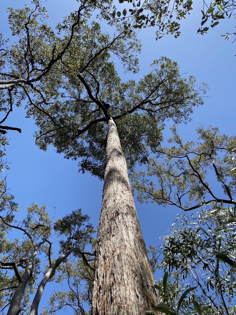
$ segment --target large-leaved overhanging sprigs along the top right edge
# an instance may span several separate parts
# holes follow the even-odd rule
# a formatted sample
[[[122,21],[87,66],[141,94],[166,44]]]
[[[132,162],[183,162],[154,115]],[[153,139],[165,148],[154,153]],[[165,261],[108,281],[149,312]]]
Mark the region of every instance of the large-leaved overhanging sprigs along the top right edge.
[[[164,34],[174,34],[175,38],[180,35],[180,20],[186,18],[187,14],[191,14],[193,9],[192,0],[119,0],[119,3],[132,3],[130,9],[123,9],[119,11],[115,6],[113,12],[110,12],[106,17],[107,20],[110,20],[110,23],[114,19],[116,20],[126,20],[127,18],[134,18],[134,22],[129,23],[129,27],[135,29],[141,29],[148,26],[156,26],[156,40],[163,37]],[[219,24],[219,20],[229,19],[234,10],[236,4],[234,0],[215,0],[215,1],[202,1],[202,19],[201,26],[197,30],[200,34],[205,34],[209,30],[207,24],[208,19],[211,19],[210,26],[211,28]],[[128,12],[128,15],[127,15]],[[110,16],[109,16],[110,15]],[[235,14],[233,14],[234,16]],[[226,40],[229,39],[230,35],[236,35],[235,32],[228,33],[226,32],[222,36]],[[235,39],[234,39],[235,40]]]

